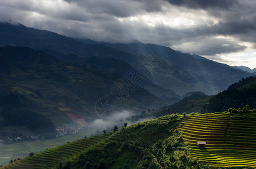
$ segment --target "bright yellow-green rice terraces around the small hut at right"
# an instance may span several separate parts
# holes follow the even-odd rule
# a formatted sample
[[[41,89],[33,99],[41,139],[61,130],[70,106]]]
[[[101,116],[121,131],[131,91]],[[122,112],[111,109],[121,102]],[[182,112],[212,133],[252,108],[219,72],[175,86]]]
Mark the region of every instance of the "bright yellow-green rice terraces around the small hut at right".
[[[211,166],[256,167],[256,121],[230,119],[227,113],[190,115],[178,127],[193,152],[189,157]],[[198,148],[197,141],[206,141]]]

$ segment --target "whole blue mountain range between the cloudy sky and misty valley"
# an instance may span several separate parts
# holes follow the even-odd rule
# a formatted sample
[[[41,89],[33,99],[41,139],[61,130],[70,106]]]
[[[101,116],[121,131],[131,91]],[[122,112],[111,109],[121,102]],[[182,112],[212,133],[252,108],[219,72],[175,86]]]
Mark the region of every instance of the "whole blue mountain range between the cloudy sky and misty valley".
[[[0,23],[0,37],[2,136],[10,135],[17,122],[20,130],[11,132],[15,136],[24,128],[44,133],[54,126],[88,126],[98,118],[101,98],[114,100],[116,111],[140,113],[177,103],[196,91],[215,95],[253,75],[141,42],[73,39],[8,23]],[[36,118],[29,118],[31,114]],[[44,128],[46,123],[49,128]]]

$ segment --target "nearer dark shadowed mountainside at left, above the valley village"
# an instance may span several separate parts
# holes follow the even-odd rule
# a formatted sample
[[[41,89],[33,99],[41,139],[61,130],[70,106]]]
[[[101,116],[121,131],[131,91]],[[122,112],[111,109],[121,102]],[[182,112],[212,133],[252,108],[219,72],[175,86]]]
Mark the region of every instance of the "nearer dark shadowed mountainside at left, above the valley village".
[[[0,47],[0,70],[0,128],[3,136],[7,135],[5,127],[16,124],[41,133],[48,130],[44,127],[46,121],[54,126],[88,126],[89,121],[98,118],[97,100],[110,97],[111,89],[119,81],[128,83],[118,74],[104,72],[92,65],[64,63],[27,47]],[[111,97],[115,99],[116,111],[125,108],[141,112],[167,104],[142,87],[127,97],[127,100],[124,96]],[[31,119],[31,114],[24,112],[47,119]],[[20,121],[20,117],[24,121]],[[53,124],[49,126],[53,127]],[[14,135],[19,132],[17,129]]]

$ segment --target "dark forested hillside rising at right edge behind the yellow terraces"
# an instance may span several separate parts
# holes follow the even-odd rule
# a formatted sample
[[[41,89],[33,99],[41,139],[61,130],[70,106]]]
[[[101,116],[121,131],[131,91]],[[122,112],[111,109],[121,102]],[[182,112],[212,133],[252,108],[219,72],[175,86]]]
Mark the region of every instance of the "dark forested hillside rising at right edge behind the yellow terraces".
[[[224,112],[229,108],[242,109],[246,105],[249,105],[251,109],[256,108],[256,77],[242,78],[215,96],[194,92],[179,102],[164,106],[151,114],[159,116],[168,113],[206,113],[206,110],[214,113]]]

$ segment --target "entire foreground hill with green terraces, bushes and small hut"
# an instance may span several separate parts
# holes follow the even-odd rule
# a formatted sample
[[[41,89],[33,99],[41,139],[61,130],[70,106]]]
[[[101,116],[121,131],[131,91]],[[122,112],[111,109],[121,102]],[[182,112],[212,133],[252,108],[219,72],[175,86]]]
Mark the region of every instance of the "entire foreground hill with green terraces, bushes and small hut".
[[[255,109],[248,111],[176,113],[115,126],[3,168],[255,168]]]

